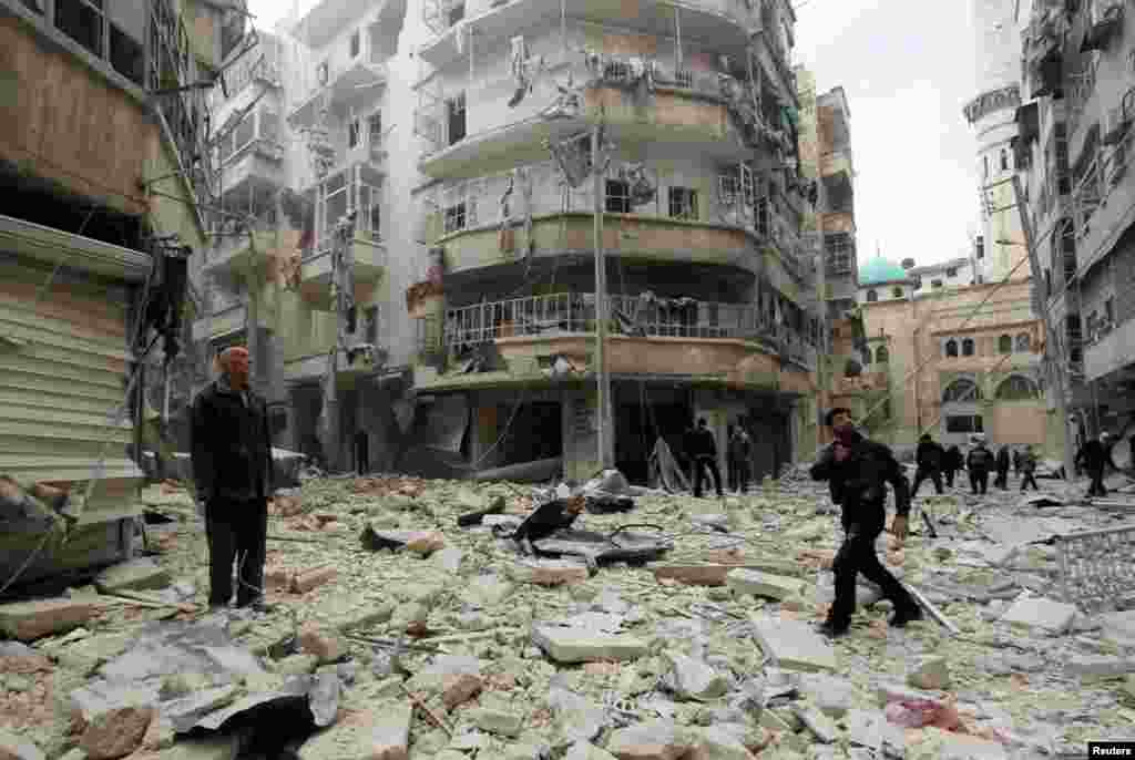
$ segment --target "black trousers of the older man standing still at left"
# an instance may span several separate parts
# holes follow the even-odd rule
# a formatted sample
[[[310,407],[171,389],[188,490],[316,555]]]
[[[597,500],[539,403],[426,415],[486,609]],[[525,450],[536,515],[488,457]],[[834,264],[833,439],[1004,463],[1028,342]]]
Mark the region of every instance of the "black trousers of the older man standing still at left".
[[[233,563],[237,563],[236,603],[263,596],[268,501],[213,501],[205,507],[209,539],[209,605],[233,598]]]

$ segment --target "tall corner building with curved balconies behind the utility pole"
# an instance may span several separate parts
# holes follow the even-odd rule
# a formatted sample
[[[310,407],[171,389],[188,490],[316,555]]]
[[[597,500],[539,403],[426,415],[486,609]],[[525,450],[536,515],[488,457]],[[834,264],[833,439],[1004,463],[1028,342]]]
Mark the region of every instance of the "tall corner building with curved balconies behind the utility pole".
[[[427,34],[414,129],[428,275],[406,298],[434,445],[474,468],[556,457],[569,478],[598,468],[598,208],[613,462],[645,480],[655,441],[679,447],[697,417],[722,451],[726,424],[745,417],[770,444],[759,474],[791,461],[815,424],[819,320],[806,307],[789,3],[411,8],[407,26]]]

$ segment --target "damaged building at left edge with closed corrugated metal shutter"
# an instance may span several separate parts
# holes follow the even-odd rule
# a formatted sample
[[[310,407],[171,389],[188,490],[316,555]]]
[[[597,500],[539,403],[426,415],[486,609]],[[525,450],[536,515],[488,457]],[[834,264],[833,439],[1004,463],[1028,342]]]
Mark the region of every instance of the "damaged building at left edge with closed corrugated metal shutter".
[[[0,0],[0,592],[135,549],[140,390],[192,311],[227,6]]]

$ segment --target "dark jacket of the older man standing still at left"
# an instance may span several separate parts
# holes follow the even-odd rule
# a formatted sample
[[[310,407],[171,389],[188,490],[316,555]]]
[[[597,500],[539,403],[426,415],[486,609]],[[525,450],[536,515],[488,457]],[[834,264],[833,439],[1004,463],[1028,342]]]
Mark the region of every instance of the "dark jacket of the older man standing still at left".
[[[272,492],[272,449],[262,398],[213,382],[193,399],[190,422],[193,480],[197,498],[252,501]]]

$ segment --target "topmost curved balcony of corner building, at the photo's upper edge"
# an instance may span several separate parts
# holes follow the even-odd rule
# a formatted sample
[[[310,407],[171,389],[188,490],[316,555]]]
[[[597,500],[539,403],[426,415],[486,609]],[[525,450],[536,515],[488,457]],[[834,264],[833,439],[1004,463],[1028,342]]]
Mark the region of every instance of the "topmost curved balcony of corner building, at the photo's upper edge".
[[[564,5],[566,3],[566,5]],[[466,0],[465,17],[449,25],[438,11],[427,18],[435,36],[418,54],[442,68],[474,50],[486,50],[541,19],[614,24],[630,32],[673,36],[675,14],[684,39],[713,41],[715,52],[742,56],[751,33],[759,28],[759,3],[748,0]],[[427,11],[428,12],[428,11]]]

